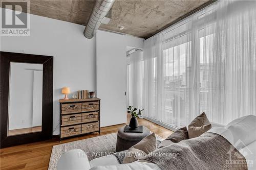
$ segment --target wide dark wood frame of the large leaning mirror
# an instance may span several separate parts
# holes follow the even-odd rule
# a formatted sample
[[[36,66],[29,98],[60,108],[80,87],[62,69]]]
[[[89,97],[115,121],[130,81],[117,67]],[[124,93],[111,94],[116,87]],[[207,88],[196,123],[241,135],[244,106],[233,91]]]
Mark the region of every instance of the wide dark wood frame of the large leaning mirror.
[[[0,52],[1,91],[1,148],[52,138],[53,122],[53,57]],[[8,136],[8,100],[10,62],[42,64],[42,131]]]

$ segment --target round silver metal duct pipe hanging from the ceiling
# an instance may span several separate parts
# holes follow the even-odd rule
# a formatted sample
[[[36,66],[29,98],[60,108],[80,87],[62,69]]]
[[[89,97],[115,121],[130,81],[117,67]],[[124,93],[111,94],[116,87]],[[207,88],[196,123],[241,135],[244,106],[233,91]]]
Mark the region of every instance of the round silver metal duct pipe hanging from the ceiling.
[[[115,0],[96,1],[83,35],[91,39],[99,29],[102,19],[108,14]]]

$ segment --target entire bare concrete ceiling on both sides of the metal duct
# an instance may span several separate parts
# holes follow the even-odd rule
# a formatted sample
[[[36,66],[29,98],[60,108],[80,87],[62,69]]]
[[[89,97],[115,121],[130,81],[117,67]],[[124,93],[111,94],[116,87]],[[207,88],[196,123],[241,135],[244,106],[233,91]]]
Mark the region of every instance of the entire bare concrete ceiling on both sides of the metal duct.
[[[112,7],[111,21],[107,25],[101,24],[100,29],[147,38],[206,2],[208,0],[116,0]],[[86,25],[94,4],[95,1],[87,0],[31,0],[30,13]],[[123,26],[124,29],[119,30],[119,26]]]

